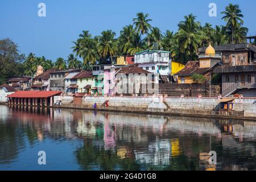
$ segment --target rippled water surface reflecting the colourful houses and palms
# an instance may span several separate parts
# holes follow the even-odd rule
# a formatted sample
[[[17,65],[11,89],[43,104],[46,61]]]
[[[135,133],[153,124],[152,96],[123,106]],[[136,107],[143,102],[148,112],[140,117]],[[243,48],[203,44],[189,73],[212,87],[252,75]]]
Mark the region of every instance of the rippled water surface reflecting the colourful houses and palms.
[[[255,170],[255,138],[250,121],[0,106],[0,169]]]

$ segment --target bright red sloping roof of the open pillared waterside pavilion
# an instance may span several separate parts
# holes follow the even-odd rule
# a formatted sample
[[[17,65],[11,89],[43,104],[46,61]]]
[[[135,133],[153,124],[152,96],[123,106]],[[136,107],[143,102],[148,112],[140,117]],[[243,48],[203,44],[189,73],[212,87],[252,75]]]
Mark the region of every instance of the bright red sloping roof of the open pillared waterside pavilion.
[[[10,94],[7,97],[15,98],[47,98],[55,95],[60,95],[59,91],[18,91]]]

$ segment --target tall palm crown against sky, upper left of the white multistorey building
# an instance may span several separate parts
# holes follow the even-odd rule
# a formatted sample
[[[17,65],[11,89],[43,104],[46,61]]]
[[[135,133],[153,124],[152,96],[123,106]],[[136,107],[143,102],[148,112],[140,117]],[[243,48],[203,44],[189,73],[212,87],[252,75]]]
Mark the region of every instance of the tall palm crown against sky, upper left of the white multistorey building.
[[[152,19],[148,19],[148,16],[148,14],[137,13],[137,18],[133,18],[135,30],[137,30],[140,35],[148,34],[151,30],[151,24],[149,22],[151,22]]]

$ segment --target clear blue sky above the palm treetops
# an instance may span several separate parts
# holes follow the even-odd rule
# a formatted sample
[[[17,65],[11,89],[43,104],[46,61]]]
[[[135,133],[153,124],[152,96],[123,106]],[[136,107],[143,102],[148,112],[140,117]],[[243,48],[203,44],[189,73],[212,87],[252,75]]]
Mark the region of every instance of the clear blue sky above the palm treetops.
[[[38,4],[46,3],[46,17],[38,16]],[[217,5],[217,17],[208,15],[209,3]],[[56,60],[67,59],[72,53],[73,41],[82,30],[99,35],[103,30],[119,31],[131,24],[138,12],[150,14],[152,26],[162,32],[177,30],[177,24],[185,15],[193,13],[202,24],[225,24],[221,11],[229,3],[240,5],[249,28],[249,35],[256,35],[255,0],[1,0],[0,39],[10,38],[18,43],[19,50],[28,55],[46,56]]]

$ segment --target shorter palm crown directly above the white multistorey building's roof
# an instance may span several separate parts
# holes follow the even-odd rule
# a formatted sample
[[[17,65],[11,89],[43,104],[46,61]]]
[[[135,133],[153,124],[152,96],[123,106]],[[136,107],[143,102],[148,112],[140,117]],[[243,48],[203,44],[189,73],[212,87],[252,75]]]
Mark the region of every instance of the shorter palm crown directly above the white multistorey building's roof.
[[[149,49],[156,49],[163,48],[162,45],[163,35],[158,27],[153,27],[150,34],[147,35],[147,40],[149,43]]]

